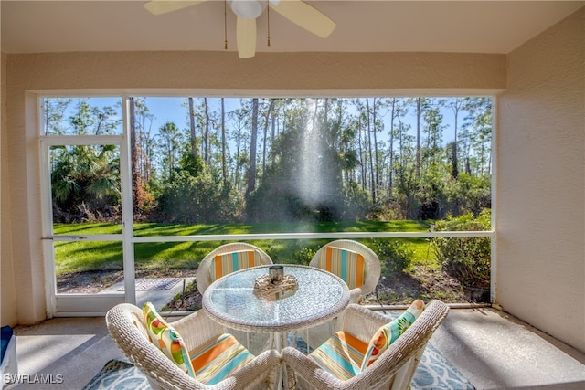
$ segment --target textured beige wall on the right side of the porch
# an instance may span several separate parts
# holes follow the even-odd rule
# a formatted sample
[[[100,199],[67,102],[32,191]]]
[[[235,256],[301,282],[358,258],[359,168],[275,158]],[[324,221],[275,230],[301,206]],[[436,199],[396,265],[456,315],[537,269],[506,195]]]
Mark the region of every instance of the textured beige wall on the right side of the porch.
[[[585,351],[585,8],[508,55],[496,299]]]

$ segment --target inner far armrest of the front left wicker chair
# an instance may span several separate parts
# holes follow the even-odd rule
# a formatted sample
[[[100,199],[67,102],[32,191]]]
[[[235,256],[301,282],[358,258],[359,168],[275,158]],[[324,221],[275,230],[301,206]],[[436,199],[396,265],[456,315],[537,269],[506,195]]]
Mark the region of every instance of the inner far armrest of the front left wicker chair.
[[[203,309],[172,322],[171,325],[181,335],[189,351],[227,332],[224,326],[212,321]]]

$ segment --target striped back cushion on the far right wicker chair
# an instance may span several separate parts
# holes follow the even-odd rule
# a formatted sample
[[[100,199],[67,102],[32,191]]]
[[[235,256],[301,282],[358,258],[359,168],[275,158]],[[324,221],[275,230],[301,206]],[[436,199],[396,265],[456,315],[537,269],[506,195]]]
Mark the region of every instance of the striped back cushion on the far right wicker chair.
[[[325,269],[344,279],[349,290],[364,284],[366,260],[361,253],[345,248],[326,247],[321,251],[318,261],[320,269]]]

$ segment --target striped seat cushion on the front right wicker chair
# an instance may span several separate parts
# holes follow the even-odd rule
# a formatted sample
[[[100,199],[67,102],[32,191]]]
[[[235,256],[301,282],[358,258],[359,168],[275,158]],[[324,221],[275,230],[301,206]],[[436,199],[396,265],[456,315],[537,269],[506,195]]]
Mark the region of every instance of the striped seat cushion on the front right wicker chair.
[[[346,381],[360,373],[366,350],[367,343],[340,331],[335,332],[308,357],[328,373]]]

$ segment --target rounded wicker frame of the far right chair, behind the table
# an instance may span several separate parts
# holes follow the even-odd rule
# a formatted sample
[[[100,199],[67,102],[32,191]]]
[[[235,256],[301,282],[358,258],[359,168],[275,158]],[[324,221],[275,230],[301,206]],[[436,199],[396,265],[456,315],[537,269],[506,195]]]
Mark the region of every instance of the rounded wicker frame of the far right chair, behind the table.
[[[338,239],[336,241],[331,241],[317,250],[313,259],[311,260],[311,263],[309,264],[311,267],[318,267],[319,259],[327,247],[352,250],[354,252],[360,253],[364,257],[364,284],[349,291],[350,303],[359,303],[359,300],[361,300],[364,295],[367,295],[376,289],[378,280],[380,279],[380,260],[378,255],[376,255],[372,249],[367,248],[367,246],[364,244],[350,239]],[[340,278],[342,277],[341,275],[337,276]]]

